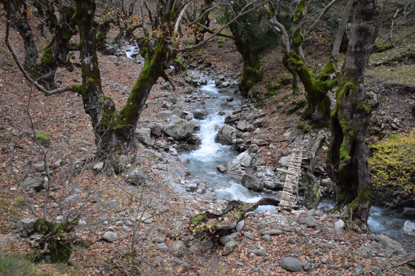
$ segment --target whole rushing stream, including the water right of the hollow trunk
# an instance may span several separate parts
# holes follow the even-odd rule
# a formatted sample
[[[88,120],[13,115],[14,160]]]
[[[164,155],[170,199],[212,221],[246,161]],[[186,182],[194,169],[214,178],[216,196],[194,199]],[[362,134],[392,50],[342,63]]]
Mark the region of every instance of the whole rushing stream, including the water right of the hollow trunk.
[[[200,131],[195,132],[195,135],[202,140],[202,144],[198,150],[184,153],[190,160],[187,167],[192,172],[191,177],[200,177],[207,184],[212,185],[218,199],[239,199],[245,202],[256,202],[264,196],[263,193],[251,191],[242,186],[240,180],[232,179],[228,174],[216,170],[217,165],[226,165],[227,162],[239,154],[236,150],[230,150],[229,145],[216,143],[215,136],[219,129],[225,125],[225,117],[242,106],[244,97],[234,94],[232,90],[220,93],[215,87],[214,80],[210,80],[200,73],[193,73],[200,77],[201,80],[207,80],[207,85],[199,88],[207,97],[203,99],[205,102],[203,107],[199,104],[194,104],[192,108],[204,109],[209,115],[204,120],[193,119],[195,124],[200,125]],[[232,101],[233,107],[221,105],[226,102],[227,97],[234,98]],[[224,111],[225,114],[220,115],[219,111]],[[320,206],[325,205],[333,207],[333,199],[323,199]],[[266,210],[274,211],[275,207],[260,206],[256,211]],[[372,206],[368,225],[374,234],[384,234],[393,239],[403,240],[408,238],[408,236],[402,233],[402,227],[406,220],[398,211]]]

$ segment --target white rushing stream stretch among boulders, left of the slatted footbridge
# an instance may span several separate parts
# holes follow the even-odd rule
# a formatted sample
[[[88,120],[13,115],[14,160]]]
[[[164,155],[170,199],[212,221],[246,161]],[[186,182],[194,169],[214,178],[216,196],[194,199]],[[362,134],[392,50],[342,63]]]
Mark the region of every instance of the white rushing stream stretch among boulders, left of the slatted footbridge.
[[[225,117],[232,114],[232,111],[242,106],[244,97],[228,92],[218,92],[214,80],[193,72],[200,79],[207,80],[207,85],[199,88],[207,97],[203,98],[203,107],[195,105],[194,109],[203,109],[209,115],[204,120],[193,119],[195,124],[200,125],[200,131],[194,134],[202,140],[200,148],[184,153],[190,160],[187,163],[188,169],[192,172],[191,177],[198,176],[214,187],[218,199],[234,199],[245,202],[256,202],[262,198],[263,193],[251,191],[241,185],[238,179],[232,179],[226,173],[216,170],[217,165],[226,165],[227,162],[236,157],[239,153],[231,150],[229,145],[222,145],[215,142],[215,136],[219,129],[225,125]],[[227,103],[226,98],[233,97],[232,107],[222,106]],[[220,115],[220,111],[225,114]],[[260,206],[256,211],[275,210],[274,206]]]

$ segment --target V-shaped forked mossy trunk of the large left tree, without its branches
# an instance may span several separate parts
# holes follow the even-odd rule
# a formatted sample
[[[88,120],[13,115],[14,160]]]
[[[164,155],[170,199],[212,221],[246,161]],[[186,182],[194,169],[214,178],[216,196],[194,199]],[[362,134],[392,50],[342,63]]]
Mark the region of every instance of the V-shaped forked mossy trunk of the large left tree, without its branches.
[[[112,99],[105,96],[101,88],[95,44],[98,24],[93,20],[94,12],[94,0],[77,1],[82,63],[82,85],[78,86],[78,92],[82,94],[85,112],[91,118],[98,153],[101,157],[116,160],[117,155],[135,152],[134,131],[146,99],[156,80],[160,76],[166,77],[163,67],[166,67],[168,44],[161,35],[155,48],[144,47],[144,67],[126,104],[117,111]]]

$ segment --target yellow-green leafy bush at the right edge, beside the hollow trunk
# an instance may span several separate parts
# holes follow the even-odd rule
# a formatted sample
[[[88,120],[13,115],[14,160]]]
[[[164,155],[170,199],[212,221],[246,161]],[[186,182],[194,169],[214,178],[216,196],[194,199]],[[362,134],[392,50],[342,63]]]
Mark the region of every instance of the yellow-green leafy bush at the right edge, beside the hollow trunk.
[[[393,135],[370,147],[368,158],[375,189],[404,189],[415,193],[415,133]]]

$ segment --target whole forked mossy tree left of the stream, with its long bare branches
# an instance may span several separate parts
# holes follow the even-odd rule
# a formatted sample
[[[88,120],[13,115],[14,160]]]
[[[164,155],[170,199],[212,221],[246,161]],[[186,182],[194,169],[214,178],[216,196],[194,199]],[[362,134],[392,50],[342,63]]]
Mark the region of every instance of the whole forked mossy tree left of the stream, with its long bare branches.
[[[14,0],[7,0],[6,4],[8,7],[11,6],[11,1]],[[181,11],[187,7],[186,4],[189,0],[186,2],[177,0],[157,1],[158,5],[155,5],[156,10],[152,11],[153,15],[156,14],[157,20],[153,20],[152,26],[146,24],[148,15],[144,13],[146,10],[144,1],[141,1],[141,29],[144,35],[144,48],[141,54],[145,59],[144,66],[131,89],[127,102],[119,110],[115,108],[112,99],[104,95],[102,91],[95,44],[96,32],[98,30],[98,23],[95,22],[95,0],[76,0],[75,2],[73,20],[75,20],[78,26],[80,36],[81,85],[68,85],[54,90],[46,89],[36,79],[33,79],[20,63],[17,53],[8,39],[10,21],[7,23],[5,41],[24,77],[38,90],[43,92],[45,96],[66,91],[81,94],[85,112],[90,115],[93,126],[98,157],[117,161],[123,155],[129,156],[128,158],[134,158],[136,152],[134,131],[146,99],[158,78],[162,77],[170,82],[174,89],[174,85],[169,80],[165,70],[171,61],[176,58],[177,54],[193,50],[212,39],[228,27],[229,24],[237,20],[238,17],[253,10],[254,8],[250,7],[252,3],[259,3],[260,1],[252,0],[248,2],[234,19],[217,29],[203,41],[200,41],[199,44],[188,47],[181,47],[181,42],[177,37],[176,25],[182,22],[183,13]],[[200,17],[202,16],[203,14],[200,15]],[[183,27],[191,28],[192,22],[189,24],[184,24]],[[114,163],[116,164],[117,162]]]

